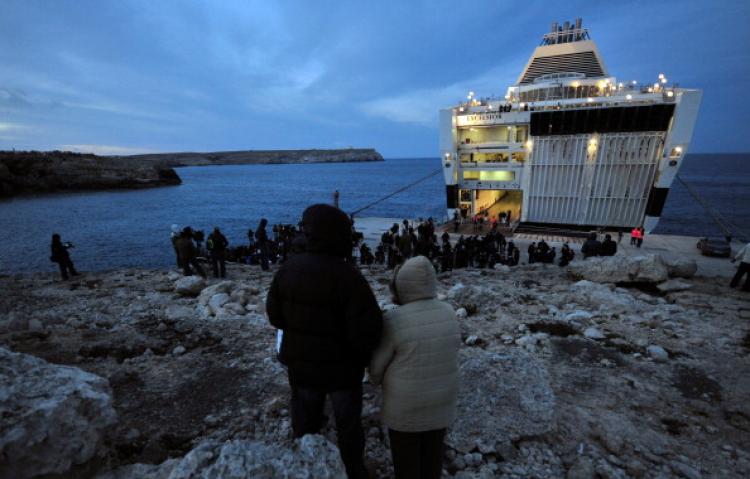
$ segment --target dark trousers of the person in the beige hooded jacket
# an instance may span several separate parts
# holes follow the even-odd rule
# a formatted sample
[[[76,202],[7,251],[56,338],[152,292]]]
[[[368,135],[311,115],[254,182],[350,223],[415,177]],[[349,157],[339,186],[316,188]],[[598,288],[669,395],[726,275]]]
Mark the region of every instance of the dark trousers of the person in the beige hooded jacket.
[[[396,479],[439,479],[445,429],[401,432],[388,429]]]

